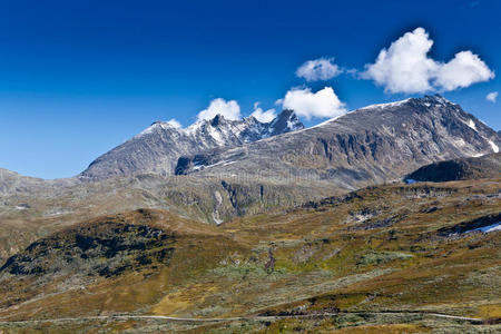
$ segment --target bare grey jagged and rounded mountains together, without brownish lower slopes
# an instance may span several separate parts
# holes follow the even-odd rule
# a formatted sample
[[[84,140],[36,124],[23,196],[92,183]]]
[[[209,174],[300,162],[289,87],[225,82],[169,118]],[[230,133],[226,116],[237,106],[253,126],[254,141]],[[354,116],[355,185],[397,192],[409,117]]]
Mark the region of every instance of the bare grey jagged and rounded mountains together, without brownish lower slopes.
[[[287,134],[287,135],[285,135]],[[436,160],[499,151],[499,135],[441,96],[348,112],[310,129],[292,110],[263,124],[217,115],[186,129],[157,121],[97,158],[80,179],[153,173],[331,180],[354,189]]]

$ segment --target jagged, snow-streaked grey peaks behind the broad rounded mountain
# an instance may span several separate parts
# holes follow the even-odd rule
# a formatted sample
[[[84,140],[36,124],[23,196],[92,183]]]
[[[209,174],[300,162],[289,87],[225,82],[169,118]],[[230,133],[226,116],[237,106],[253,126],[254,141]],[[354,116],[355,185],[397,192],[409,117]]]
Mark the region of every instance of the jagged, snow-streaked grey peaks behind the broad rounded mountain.
[[[157,121],[136,137],[97,158],[80,174],[81,179],[102,179],[116,175],[155,173],[173,175],[177,159],[210,148],[234,147],[271,136],[303,129],[291,110],[284,110],[272,122],[254,117],[240,120],[217,115],[199,120],[186,129]]]

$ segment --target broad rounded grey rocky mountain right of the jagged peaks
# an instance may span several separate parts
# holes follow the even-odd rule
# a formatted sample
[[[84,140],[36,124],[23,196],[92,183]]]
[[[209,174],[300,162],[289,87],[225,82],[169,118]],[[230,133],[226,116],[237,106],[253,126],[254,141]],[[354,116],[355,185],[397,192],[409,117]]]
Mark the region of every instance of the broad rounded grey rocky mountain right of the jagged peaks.
[[[499,135],[440,96],[369,106],[242,147],[179,159],[180,175],[323,180],[345,188],[400,178],[416,168],[499,150]]]

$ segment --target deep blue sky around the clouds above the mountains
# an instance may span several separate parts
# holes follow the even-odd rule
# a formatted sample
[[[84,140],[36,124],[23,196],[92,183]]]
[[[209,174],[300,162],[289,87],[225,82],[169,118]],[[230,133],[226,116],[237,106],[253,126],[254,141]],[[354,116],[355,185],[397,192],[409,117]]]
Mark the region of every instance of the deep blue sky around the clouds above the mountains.
[[[434,61],[469,50],[495,72],[442,94],[499,130],[501,98],[485,96],[501,91],[500,13],[495,0],[0,0],[0,167],[73,176],[155,120],[188,126],[216,98],[247,116],[256,101],[279,109],[294,87],[332,87],[345,109],[421,96],[346,72],[296,76],[322,57],[361,73],[418,27]]]

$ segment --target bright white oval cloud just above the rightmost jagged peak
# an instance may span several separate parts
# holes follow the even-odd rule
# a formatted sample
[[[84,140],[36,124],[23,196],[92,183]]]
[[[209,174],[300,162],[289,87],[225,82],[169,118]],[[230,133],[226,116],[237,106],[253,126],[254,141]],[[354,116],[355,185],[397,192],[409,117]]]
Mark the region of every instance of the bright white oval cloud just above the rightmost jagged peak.
[[[292,109],[299,117],[311,119],[312,117],[325,118],[346,114],[345,104],[335,95],[331,87],[325,87],[317,92],[310,88],[293,88],[283,99],[284,109]]]

